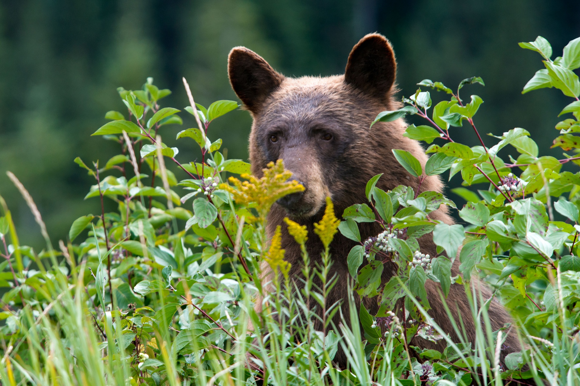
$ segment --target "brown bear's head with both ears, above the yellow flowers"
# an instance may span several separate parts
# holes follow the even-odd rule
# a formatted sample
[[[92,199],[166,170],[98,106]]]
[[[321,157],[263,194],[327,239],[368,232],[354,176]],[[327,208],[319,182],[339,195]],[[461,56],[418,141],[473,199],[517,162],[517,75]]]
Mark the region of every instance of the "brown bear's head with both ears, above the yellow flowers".
[[[369,127],[379,112],[400,107],[392,99],[396,67],[389,41],[379,34],[362,38],[345,74],[332,77],[284,77],[252,50],[231,50],[231,86],[253,117],[252,172],[261,176],[281,158],[306,188],[278,201],[292,217],[314,216],[326,196],[338,210],[363,202],[365,184],[380,172],[382,188],[415,185],[391,153],[404,149],[426,161],[419,144],[402,136],[404,122]]]

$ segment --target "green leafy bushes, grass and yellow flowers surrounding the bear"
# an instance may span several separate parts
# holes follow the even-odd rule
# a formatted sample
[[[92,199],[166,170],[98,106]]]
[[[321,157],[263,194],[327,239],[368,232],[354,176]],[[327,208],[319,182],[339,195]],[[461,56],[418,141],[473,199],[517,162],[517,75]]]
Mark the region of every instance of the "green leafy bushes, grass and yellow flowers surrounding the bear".
[[[520,46],[539,52],[546,67],[523,92],[554,87],[575,99],[560,114],[574,118],[556,124],[561,135],[552,147],[577,152],[580,82],[572,70],[580,67],[580,38],[554,60],[542,37]],[[180,131],[177,139],[197,143],[201,160],[179,163],[179,150],[167,147],[160,136],[169,130],[162,126],[182,124],[179,110],[160,107],[170,91],[158,89],[151,78],[141,90],[119,88],[128,119],[109,111],[110,122],[93,135],[119,143],[121,154],[104,166],[97,161],[89,167],[75,159],[95,178],[86,198],[99,199],[102,212],[75,220],[70,241],[59,242],[59,250],[51,245],[32,198],[9,173],[47,247],[36,252],[19,244],[10,210],[0,198],[0,280],[6,287],[0,313],[2,383],[460,385],[533,378],[538,384],[542,379],[580,384],[580,173],[562,170],[570,163],[580,165],[580,156],[539,156],[538,145],[521,128],[496,136],[498,143],[486,147],[473,119],[483,100],[473,95],[463,103],[459,96],[472,83],[484,84],[481,78],[469,78],[455,91],[426,79],[418,83],[422,88],[450,99],[434,105],[429,114],[430,93],[418,89],[403,99],[405,107],[382,112],[375,120],[408,114],[426,119],[428,125],[410,125],[405,132],[431,144],[426,152],[433,155],[424,170],[408,152],[393,150],[420,181],[449,170],[449,179],[461,172],[465,186],[488,185],[477,194],[454,190],[467,201],[459,217],[469,225],[442,224],[429,216],[440,205],[456,207],[440,193],[419,194],[405,186],[382,191],[375,186],[378,174],[367,184],[368,202],[347,208],[343,221],[336,219],[328,199],[315,235],[285,220],[302,248],[303,278],[288,275],[280,227],[270,240],[266,235],[271,205],[303,190],[302,185],[288,181],[291,174],[282,161],[271,163],[260,179],[249,176],[248,163],[227,159],[219,151],[222,140],[208,138],[213,119],[237,103],[195,104],[184,81],[190,102],[184,110],[198,127]],[[464,124],[481,145],[468,147],[452,139],[452,128]],[[519,153],[509,156],[509,163],[498,155],[507,145]],[[166,169],[169,160],[184,179]],[[146,170],[150,176],[142,173]],[[245,181],[227,179],[228,173]],[[117,211],[105,213],[105,199],[114,201]],[[186,203],[193,211],[182,206]],[[361,240],[358,223],[375,221],[385,231]],[[353,291],[378,301],[380,310],[369,315],[364,307],[354,307],[353,298],[345,299],[351,325],[337,326],[332,321],[339,303],[327,299],[339,279],[329,276],[328,247],[338,231],[360,242],[348,258]],[[437,256],[419,249],[417,238],[430,232]],[[73,244],[84,235],[84,241]],[[325,246],[320,265],[310,264],[306,252],[306,240],[312,237]],[[461,274],[452,277],[455,259],[447,256],[457,256],[460,247]],[[381,283],[386,261],[397,263],[398,271]],[[266,267],[274,274],[260,276]],[[492,298],[480,298],[471,286],[476,276],[494,290]],[[302,290],[295,290],[295,280],[305,282]],[[465,285],[472,315],[463,317],[476,322],[473,342],[451,341],[429,317],[427,280],[440,283],[443,296],[452,283]],[[494,297],[514,316],[525,347],[508,355],[505,365],[499,361],[504,330],[492,331],[487,315]],[[401,298],[408,315],[393,312]],[[314,329],[315,321],[320,331]],[[460,326],[458,322],[462,336]],[[447,348],[414,348],[409,344],[416,335],[443,339]],[[348,360],[345,369],[333,363],[339,349]]]

